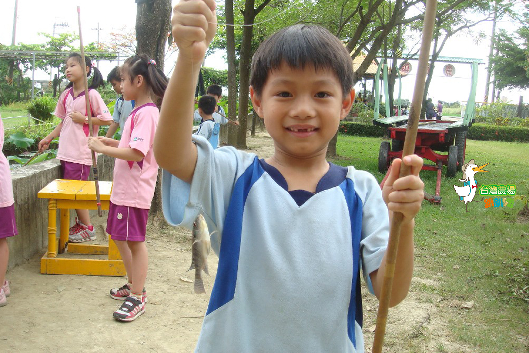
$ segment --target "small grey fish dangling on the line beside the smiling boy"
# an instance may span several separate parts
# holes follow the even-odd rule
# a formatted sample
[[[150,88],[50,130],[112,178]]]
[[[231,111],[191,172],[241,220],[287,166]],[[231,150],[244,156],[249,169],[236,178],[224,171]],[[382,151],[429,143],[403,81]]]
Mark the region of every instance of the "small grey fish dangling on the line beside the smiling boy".
[[[211,234],[213,234],[212,232]],[[206,293],[202,280],[202,271],[209,276],[207,268],[207,256],[211,250],[211,236],[207,229],[206,220],[202,214],[198,214],[193,222],[193,238],[191,238],[191,266],[188,271],[195,269],[195,293]]]

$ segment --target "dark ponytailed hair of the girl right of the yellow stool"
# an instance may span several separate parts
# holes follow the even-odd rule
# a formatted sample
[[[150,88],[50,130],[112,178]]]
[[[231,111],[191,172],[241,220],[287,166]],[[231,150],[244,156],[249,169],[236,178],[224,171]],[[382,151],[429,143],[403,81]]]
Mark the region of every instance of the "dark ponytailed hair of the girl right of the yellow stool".
[[[141,75],[145,79],[147,86],[152,89],[152,93],[160,98],[167,88],[167,77],[162,70],[156,67],[156,62],[147,55],[136,54],[126,59],[121,70],[129,74],[131,82],[134,77]],[[159,102],[161,104],[161,102]]]

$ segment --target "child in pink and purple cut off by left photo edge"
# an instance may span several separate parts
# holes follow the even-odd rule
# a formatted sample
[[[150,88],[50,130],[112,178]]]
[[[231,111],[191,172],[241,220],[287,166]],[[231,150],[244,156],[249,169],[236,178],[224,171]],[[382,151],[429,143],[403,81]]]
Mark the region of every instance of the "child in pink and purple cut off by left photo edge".
[[[15,206],[11,170],[2,148],[4,146],[4,124],[0,115],[0,306],[7,304],[6,297],[11,294],[9,283],[5,279],[9,248],[7,238],[18,234],[15,223]]]

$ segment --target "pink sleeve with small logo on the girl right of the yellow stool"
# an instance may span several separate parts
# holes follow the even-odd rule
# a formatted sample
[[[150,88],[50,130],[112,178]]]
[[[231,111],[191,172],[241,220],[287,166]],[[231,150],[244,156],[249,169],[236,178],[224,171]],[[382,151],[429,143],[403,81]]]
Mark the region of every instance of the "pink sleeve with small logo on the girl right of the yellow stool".
[[[154,133],[158,125],[157,113],[157,108],[152,110],[144,109],[134,116],[134,127],[131,131],[129,147],[142,152],[143,156],[147,155],[147,152],[152,149]]]

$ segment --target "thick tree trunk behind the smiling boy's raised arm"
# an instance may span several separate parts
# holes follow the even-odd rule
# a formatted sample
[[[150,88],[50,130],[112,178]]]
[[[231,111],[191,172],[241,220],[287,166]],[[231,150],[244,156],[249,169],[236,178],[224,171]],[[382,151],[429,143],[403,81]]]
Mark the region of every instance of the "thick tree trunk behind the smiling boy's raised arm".
[[[170,20],[171,0],[136,5],[136,50],[156,60],[156,67],[162,71]],[[150,214],[153,223],[167,224],[162,213],[161,174],[159,169]]]

